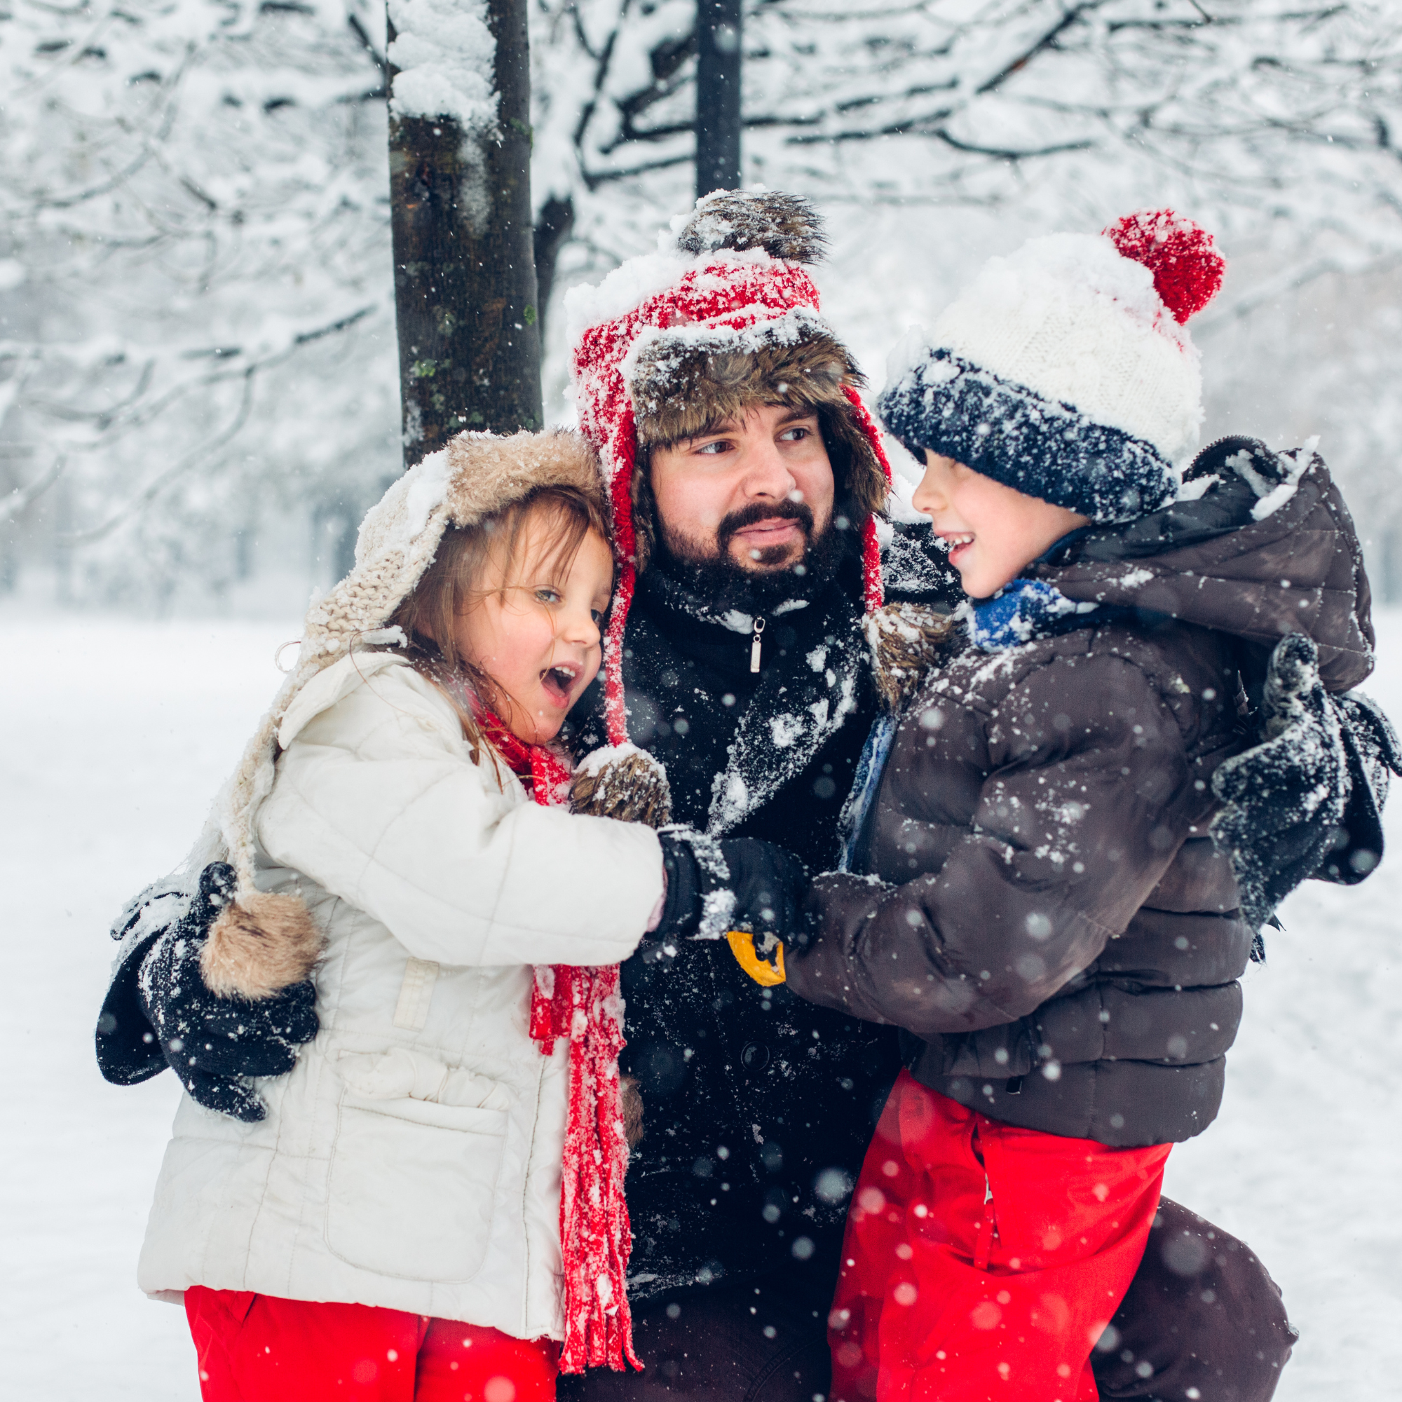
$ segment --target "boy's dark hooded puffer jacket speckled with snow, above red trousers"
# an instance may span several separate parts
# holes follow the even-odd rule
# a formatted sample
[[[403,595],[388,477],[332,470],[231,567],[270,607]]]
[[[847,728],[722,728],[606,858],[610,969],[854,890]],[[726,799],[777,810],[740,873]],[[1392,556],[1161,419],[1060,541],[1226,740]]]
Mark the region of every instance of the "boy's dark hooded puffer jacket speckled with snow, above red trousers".
[[[1101,607],[932,676],[859,838],[871,876],[817,883],[788,960],[791,990],[896,1023],[918,1080],[994,1119],[1143,1145],[1217,1113],[1253,931],[1213,771],[1281,637],[1314,638],[1330,691],[1373,642],[1323,464],[1260,520],[1227,477],[1028,571]]]

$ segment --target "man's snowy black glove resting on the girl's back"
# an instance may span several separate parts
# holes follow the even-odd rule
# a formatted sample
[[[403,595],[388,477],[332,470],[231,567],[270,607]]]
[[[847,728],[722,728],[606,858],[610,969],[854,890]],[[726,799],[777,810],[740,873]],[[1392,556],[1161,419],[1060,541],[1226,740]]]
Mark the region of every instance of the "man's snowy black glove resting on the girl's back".
[[[186,913],[142,960],[136,988],[170,1068],[206,1109],[252,1123],[266,1113],[247,1077],[286,1075],[297,1047],[317,1035],[317,990],[294,983],[271,998],[219,998],[205,987],[199,953],[233,900],[234,869],[212,862]]]

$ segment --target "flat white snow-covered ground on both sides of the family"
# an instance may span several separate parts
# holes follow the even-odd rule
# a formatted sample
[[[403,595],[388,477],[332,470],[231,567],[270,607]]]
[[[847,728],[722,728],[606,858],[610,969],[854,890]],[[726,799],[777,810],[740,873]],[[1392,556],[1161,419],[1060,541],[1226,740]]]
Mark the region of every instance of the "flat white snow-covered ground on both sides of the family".
[[[1402,716],[1402,613],[1370,690]],[[0,1359],[6,1395],[193,1402],[133,1272],[177,1085],[93,1060],[107,925],[198,830],[276,684],[278,622],[0,613]],[[1402,1394],[1402,801],[1354,890],[1311,885],[1246,979],[1223,1116],[1168,1192],[1244,1237],[1301,1330],[1280,1402]],[[1213,1399],[1206,1399],[1213,1402]]]

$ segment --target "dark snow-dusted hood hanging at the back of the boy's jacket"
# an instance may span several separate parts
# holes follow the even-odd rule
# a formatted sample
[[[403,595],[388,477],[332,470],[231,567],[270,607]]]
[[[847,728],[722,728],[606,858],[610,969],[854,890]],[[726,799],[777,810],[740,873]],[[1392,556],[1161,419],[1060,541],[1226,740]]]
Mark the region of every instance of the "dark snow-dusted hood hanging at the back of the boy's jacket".
[[[1197,456],[1176,502],[1085,530],[1025,573],[1080,603],[1180,618],[1267,651],[1305,634],[1329,691],[1373,670],[1363,551],[1312,443],[1273,453],[1256,439],[1221,439]]]

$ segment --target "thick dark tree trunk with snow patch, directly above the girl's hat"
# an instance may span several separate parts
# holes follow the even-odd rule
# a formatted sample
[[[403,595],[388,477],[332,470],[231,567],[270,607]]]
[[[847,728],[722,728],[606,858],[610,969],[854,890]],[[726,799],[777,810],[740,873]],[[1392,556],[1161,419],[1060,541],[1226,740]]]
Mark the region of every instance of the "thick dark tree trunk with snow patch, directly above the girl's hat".
[[[390,109],[404,465],[463,429],[541,426],[524,0],[486,0],[494,128]],[[394,28],[390,28],[394,39]],[[390,67],[390,81],[398,69]]]

